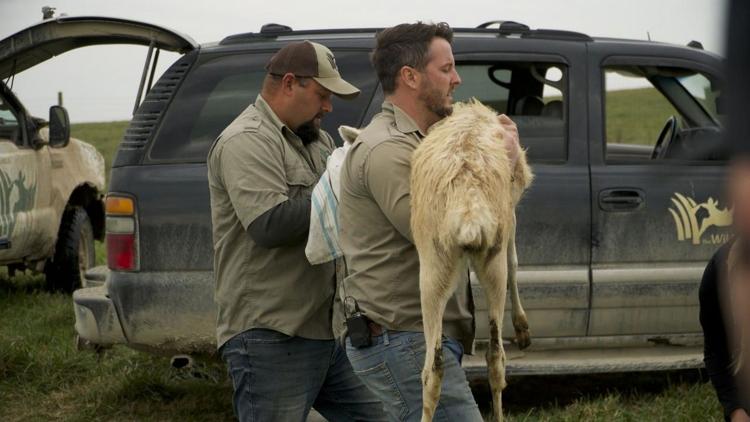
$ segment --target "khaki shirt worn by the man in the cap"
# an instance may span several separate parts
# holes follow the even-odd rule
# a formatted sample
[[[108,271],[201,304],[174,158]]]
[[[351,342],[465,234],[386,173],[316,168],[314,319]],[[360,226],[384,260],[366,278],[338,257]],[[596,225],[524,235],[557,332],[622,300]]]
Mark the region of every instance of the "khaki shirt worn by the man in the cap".
[[[247,232],[276,205],[310,195],[334,148],[320,133],[303,145],[258,95],[208,153],[219,347],[251,328],[333,338],[333,263],[310,265],[305,242],[266,249]]]

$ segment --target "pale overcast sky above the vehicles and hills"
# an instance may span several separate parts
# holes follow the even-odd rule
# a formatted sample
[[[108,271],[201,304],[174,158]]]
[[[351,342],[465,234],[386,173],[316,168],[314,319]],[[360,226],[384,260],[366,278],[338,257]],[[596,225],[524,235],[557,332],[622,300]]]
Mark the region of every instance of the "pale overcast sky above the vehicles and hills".
[[[199,43],[258,31],[269,22],[294,29],[384,27],[445,21],[474,27],[515,20],[532,28],[566,29],[591,36],[687,44],[699,40],[724,54],[725,0],[0,0],[0,38],[37,23],[43,6],[69,16],[115,16],[169,27]],[[32,114],[64,93],[73,122],[127,120],[133,110],[146,47],[97,46],[75,50],[16,76],[13,90]],[[162,54],[161,74],[176,60]]]

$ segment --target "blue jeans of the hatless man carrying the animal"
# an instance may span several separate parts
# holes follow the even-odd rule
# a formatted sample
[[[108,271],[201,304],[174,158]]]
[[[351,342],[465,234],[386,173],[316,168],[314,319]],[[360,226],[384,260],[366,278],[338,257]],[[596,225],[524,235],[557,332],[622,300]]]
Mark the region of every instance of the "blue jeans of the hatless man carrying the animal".
[[[422,417],[422,366],[424,334],[385,330],[373,336],[372,346],[354,348],[346,339],[346,354],[367,387],[383,402],[393,421],[419,421]],[[461,344],[443,338],[444,374],[435,421],[482,421],[461,368]]]

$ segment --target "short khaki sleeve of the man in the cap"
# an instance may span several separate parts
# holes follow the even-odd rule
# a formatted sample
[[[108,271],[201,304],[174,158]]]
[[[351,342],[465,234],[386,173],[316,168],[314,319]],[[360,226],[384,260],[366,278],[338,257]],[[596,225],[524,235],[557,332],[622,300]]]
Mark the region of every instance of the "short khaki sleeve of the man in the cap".
[[[288,199],[283,151],[259,133],[227,139],[219,157],[224,186],[247,230],[258,216]]]

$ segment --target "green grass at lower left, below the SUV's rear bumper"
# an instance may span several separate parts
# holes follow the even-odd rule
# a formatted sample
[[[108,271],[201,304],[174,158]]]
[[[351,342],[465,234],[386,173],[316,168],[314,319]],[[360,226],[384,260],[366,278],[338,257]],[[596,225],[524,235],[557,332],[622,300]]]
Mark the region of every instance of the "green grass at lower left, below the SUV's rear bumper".
[[[176,370],[125,347],[77,352],[70,296],[43,285],[41,276],[0,273],[0,420],[232,418],[222,365]]]

